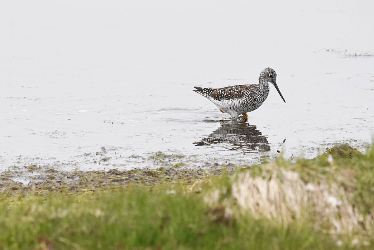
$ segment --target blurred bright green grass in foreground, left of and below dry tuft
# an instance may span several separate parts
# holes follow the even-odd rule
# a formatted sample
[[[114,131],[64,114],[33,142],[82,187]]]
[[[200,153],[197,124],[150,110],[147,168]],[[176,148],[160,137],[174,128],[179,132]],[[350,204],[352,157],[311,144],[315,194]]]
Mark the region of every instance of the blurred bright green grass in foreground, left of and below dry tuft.
[[[243,214],[224,220],[201,195],[165,190],[131,186],[3,199],[0,248],[52,242],[53,249],[334,249],[308,225],[273,225]]]

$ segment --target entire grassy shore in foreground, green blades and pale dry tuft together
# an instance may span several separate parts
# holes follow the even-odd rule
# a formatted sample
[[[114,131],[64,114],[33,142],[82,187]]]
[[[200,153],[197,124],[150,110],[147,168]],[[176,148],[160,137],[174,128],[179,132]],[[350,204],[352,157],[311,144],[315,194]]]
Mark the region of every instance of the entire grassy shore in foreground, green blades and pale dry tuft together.
[[[1,249],[374,247],[374,145],[234,173],[74,173],[61,185],[2,186]]]

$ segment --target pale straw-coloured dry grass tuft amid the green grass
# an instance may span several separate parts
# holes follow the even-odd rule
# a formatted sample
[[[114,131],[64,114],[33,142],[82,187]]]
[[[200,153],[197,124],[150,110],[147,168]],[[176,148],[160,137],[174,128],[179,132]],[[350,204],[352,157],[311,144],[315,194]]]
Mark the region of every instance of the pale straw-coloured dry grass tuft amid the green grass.
[[[267,165],[273,171],[252,176],[240,173],[232,185],[232,196],[242,211],[255,218],[288,224],[312,221],[316,229],[332,236],[373,235],[370,214],[361,214],[352,201],[352,193],[337,183],[305,183],[297,172]]]

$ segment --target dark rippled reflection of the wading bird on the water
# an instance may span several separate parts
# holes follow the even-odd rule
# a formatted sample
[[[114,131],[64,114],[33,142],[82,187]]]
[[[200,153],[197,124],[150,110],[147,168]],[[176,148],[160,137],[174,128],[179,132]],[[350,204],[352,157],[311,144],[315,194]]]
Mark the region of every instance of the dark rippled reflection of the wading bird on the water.
[[[194,144],[196,146],[214,144],[248,153],[270,151],[267,137],[257,129],[257,126],[248,125],[245,121],[222,121],[220,128]]]

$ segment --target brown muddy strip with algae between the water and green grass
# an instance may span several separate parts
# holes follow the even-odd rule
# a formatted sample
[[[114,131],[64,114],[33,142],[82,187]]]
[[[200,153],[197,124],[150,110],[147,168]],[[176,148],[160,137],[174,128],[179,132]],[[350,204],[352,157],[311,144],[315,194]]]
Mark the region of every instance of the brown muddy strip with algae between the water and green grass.
[[[210,168],[174,167],[141,168],[120,171],[58,171],[52,168],[25,166],[14,171],[8,170],[0,174],[0,192],[85,192],[96,188],[127,186],[129,184],[154,185],[160,182],[181,183],[191,185],[196,180],[222,173],[233,173],[237,165],[214,165]],[[22,183],[19,176],[29,174],[29,181]],[[32,175],[30,175],[32,174]]]

